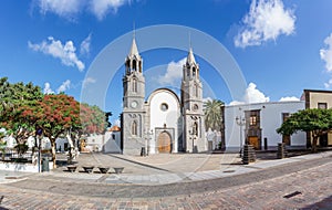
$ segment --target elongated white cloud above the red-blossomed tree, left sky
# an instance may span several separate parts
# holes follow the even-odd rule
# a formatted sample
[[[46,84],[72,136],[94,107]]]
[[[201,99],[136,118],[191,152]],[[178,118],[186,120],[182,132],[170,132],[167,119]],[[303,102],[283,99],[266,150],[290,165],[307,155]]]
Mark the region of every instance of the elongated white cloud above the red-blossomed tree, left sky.
[[[30,41],[28,46],[37,52],[52,55],[53,57],[60,59],[61,63],[68,66],[76,66],[80,72],[84,70],[84,63],[77,59],[75,53],[76,49],[72,41],[62,44],[60,40],[49,36],[48,41],[42,41],[39,44],[33,44]]]

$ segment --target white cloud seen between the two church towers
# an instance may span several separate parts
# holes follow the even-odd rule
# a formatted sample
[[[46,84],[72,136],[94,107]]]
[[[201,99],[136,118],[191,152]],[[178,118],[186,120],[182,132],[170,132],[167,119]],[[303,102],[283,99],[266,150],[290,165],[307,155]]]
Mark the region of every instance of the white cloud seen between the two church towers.
[[[160,85],[173,85],[177,86],[180,84],[183,77],[183,65],[186,63],[187,57],[179,60],[178,62],[172,61],[167,65],[165,75],[158,77],[158,83]]]

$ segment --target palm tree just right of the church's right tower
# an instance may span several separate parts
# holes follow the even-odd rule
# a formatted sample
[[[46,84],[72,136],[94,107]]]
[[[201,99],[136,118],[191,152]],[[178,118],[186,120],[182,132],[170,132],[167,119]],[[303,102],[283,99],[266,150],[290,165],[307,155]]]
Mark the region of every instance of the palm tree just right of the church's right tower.
[[[224,102],[219,99],[208,99],[204,103],[205,127],[212,130],[220,130],[222,126]]]

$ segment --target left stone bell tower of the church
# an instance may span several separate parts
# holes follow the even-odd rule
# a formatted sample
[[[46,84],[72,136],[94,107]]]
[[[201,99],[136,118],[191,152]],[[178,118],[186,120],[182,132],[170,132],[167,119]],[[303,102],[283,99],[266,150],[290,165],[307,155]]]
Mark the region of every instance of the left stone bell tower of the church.
[[[133,38],[123,76],[122,148],[127,155],[138,155],[144,146],[145,78],[142,65],[143,60]]]

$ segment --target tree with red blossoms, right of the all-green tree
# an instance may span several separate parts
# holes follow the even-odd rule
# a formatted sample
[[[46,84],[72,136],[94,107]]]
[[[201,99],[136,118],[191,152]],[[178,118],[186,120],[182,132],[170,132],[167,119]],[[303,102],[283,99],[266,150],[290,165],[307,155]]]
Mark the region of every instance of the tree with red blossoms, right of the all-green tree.
[[[75,136],[103,134],[106,128],[105,114],[97,106],[80,104],[64,94],[45,95],[37,106],[21,108],[24,109],[22,118],[35,122],[35,127],[41,128],[43,135],[50,139],[53,167],[55,167],[55,140],[60,135],[69,134],[69,141],[73,145],[72,139]]]

